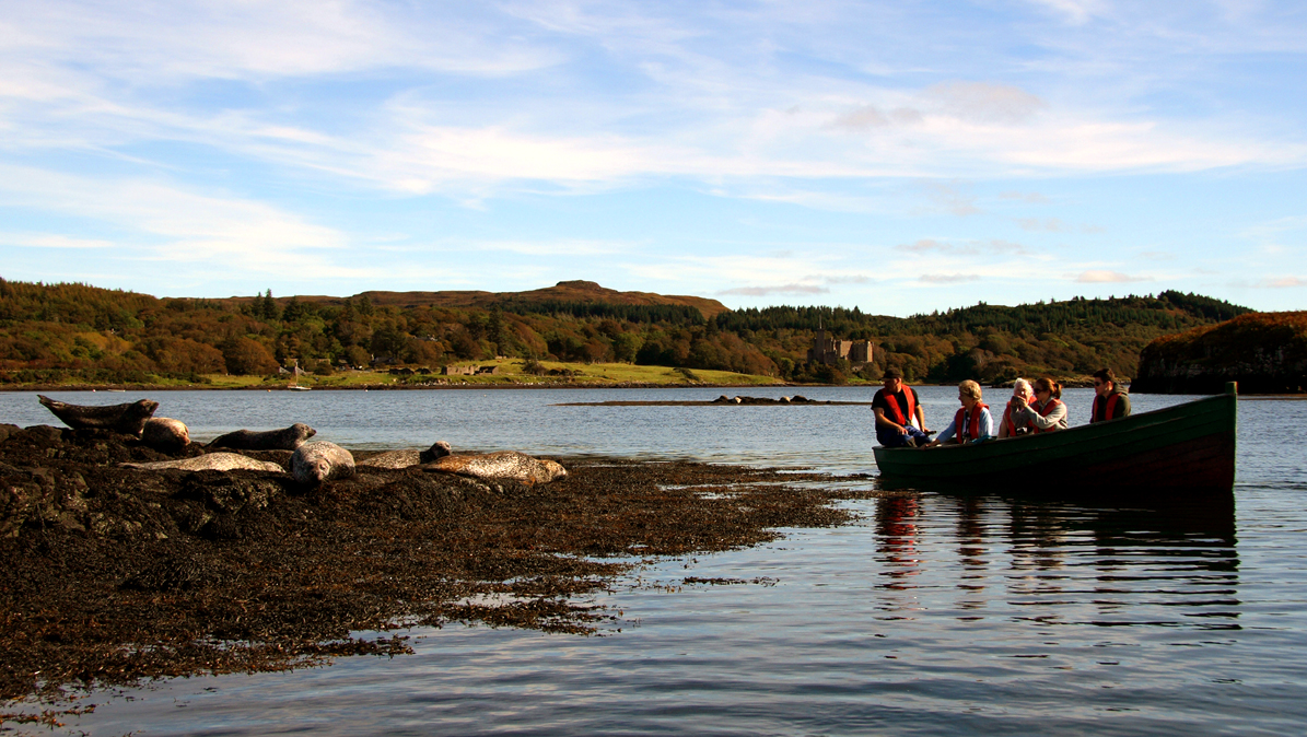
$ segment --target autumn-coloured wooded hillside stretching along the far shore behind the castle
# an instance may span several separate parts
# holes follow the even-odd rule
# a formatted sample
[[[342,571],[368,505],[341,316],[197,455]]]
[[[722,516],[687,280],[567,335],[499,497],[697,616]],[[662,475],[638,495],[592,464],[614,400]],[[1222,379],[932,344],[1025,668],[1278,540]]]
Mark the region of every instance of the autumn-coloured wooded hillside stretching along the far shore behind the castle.
[[[434,368],[495,355],[847,380],[847,365],[805,365],[818,327],[877,345],[876,361],[860,371],[867,379],[887,365],[911,380],[938,382],[1082,376],[1102,366],[1133,375],[1140,349],[1153,338],[1248,312],[1176,291],[982,303],[912,318],[830,307],[729,311],[711,299],[618,293],[592,282],[515,294],[370,294],[158,299],[0,280],[0,382],[203,382],[205,374],[271,374],[291,362],[331,372],[370,363]]]

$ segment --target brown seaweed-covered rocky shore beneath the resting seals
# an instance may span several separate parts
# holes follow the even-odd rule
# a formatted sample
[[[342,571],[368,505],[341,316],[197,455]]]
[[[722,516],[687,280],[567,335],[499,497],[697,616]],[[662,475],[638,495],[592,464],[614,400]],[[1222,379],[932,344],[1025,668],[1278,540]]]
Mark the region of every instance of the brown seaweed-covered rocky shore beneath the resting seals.
[[[119,465],[199,452],[106,430],[0,426],[10,712],[0,720],[52,724],[72,708],[61,699],[89,689],[406,652],[403,636],[352,631],[616,630],[618,613],[576,597],[644,557],[847,523],[831,502],[853,495],[791,485],[830,478],[818,474],[593,457],[559,459],[567,477],[536,486],[365,463],[319,487],[278,472]],[[31,703],[51,711],[33,715]]]

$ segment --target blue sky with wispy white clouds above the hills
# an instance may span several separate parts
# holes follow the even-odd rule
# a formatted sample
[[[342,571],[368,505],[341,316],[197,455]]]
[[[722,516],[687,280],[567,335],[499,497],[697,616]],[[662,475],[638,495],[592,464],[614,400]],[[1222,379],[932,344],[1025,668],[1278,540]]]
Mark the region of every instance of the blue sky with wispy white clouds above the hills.
[[[1307,308],[1307,4],[0,0],[0,277]]]

